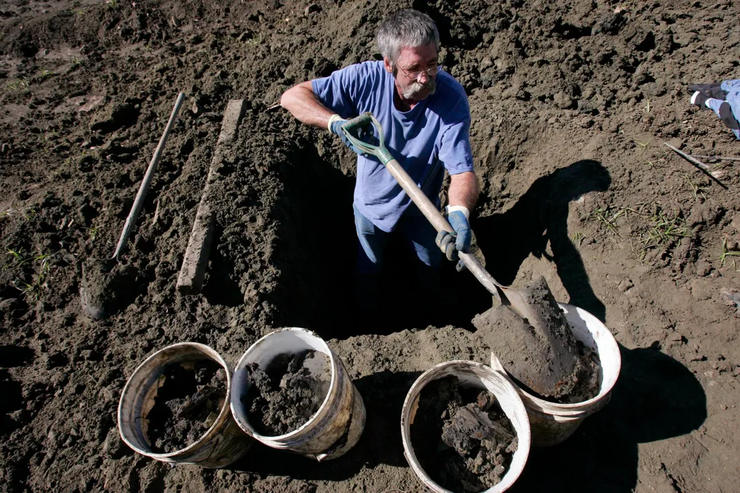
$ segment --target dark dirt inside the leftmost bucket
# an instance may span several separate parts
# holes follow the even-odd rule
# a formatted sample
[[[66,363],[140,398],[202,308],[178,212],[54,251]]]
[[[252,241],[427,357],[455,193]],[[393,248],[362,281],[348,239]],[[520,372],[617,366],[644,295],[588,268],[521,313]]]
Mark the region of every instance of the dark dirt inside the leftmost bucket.
[[[145,419],[152,450],[169,453],[195,443],[218,418],[226,398],[226,372],[215,361],[201,360],[168,364],[160,378]]]

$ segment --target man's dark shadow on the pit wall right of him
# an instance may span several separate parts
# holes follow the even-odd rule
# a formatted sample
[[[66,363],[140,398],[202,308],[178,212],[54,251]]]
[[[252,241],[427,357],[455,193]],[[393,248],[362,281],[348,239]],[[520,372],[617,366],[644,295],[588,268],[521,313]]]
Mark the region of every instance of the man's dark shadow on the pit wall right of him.
[[[610,183],[609,172],[598,161],[576,161],[539,177],[508,211],[471,220],[486,270],[510,285],[530,254],[545,256],[555,263],[571,297],[568,302],[603,322],[604,304],[593,293],[581,256],[568,237],[568,203],[590,191],[606,191]],[[548,241],[552,257],[545,252]]]

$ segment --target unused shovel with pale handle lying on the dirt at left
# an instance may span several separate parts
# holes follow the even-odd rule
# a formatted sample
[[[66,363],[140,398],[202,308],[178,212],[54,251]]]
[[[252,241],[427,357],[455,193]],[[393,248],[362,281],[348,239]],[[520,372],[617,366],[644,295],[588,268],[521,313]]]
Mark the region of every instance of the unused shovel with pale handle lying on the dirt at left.
[[[152,183],[152,177],[154,177],[155,171],[157,171],[157,165],[159,159],[164,151],[164,144],[167,142],[169,131],[172,129],[172,125],[177,119],[180,106],[185,99],[185,93],[181,92],[178,95],[175,106],[172,108],[172,114],[169,115],[167,125],[164,127],[164,132],[159,140],[159,145],[152,156],[152,160],[149,162],[149,168],[147,173],[144,174],[144,180],[141,181],[138,193],[131,206],[131,211],[126,218],[126,223],[121,231],[121,237],[118,238],[118,245],[115,247],[115,252],[110,259],[88,259],[82,265],[82,282],[80,284],[80,303],[82,309],[87,316],[92,319],[103,319],[115,310],[115,305],[121,300],[119,296],[123,294],[133,293],[133,282],[135,279],[135,271],[132,268],[119,268],[118,262],[120,262],[121,254],[126,248],[131,235],[131,229],[133,228],[136,218],[138,217],[141,208],[144,206],[144,198],[147,196],[149,191],[149,185]],[[120,291],[119,295],[116,291]]]

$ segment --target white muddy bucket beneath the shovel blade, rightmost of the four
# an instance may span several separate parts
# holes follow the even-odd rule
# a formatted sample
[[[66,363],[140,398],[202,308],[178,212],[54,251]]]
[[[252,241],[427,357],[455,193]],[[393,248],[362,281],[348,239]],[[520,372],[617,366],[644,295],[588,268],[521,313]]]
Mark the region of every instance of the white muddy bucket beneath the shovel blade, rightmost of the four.
[[[551,446],[565,441],[573,435],[581,421],[604,407],[609,402],[611,390],[616,384],[619,368],[622,366],[619,346],[605,324],[582,308],[566,303],[558,305],[564,311],[565,319],[573,330],[576,341],[592,347],[599,355],[599,394],[588,401],[576,404],[557,404],[531,395],[512,381],[527,408],[534,446]],[[493,353],[491,368],[506,375]]]

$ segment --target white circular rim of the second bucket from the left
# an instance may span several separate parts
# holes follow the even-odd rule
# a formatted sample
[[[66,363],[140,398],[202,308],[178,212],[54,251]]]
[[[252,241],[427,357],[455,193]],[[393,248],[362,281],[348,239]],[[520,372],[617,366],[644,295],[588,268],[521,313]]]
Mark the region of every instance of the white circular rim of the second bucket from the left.
[[[303,332],[308,334],[309,336],[314,337],[318,341],[320,341],[321,344],[323,344],[324,347],[326,347],[326,356],[329,356],[329,362],[331,363],[332,367],[332,377],[329,381],[329,390],[326,391],[326,396],[324,396],[324,400],[321,403],[320,407],[314,412],[314,414],[311,415],[311,418],[306,420],[305,423],[298,426],[296,429],[294,429],[292,432],[285,433],[284,435],[260,435],[260,433],[257,432],[257,430],[254,429],[252,424],[249,423],[249,420],[246,418],[246,412],[240,413],[237,412],[235,409],[234,401],[235,401],[235,392],[232,392],[231,395],[229,395],[229,408],[231,409],[231,413],[234,417],[234,421],[236,421],[236,424],[239,426],[240,429],[242,429],[243,432],[245,432],[247,435],[251,436],[252,438],[255,438],[256,440],[266,443],[271,443],[275,441],[286,441],[290,438],[295,438],[295,436],[300,435],[305,429],[309,427],[309,424],[312,424],[314,419],[320,415],[328,406],[329,406],[329,399],[332,397],[332,391],[334,391],[334,388],[336,387],[336,381],[338,381],[338,368],[337,368],[337,359],[334,358],[334,351],[332,351],[332,348],[329,347],[329,344],[326,344],[326,341],[323,340],[320,336],[318,336],[316,333],[314,333],[312,330],[304,329],[303,327],[283,327],[281,329],[273,330],[271,333],[266,334],[265,336],[260,337],[257,341],[255,341],[254,344],[249,346],[246,351],[244,351],[241,358],[239,358],[238,363],[234,367],[234,373],[236,374],[240,370],[245,370],[246,363],[245,358],[249,355],[250,352],[255,350],[256,347],[258,347],[259,344],[263,344],[263,341],[265,339],[268,339],[270,336],[275,336],[277,333],[283,333],[283,332]],[[277,446],[277,448],[280,448],[280,446]]]

